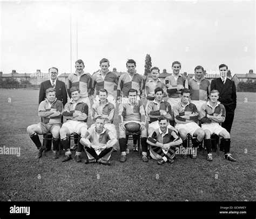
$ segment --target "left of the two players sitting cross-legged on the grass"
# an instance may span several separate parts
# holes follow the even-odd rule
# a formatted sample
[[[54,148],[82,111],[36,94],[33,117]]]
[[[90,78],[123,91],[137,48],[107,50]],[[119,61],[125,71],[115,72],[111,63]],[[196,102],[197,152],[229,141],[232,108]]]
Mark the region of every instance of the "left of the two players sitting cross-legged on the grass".
[[[80,139],[80,143],[84,145],[87,157],[85,164],[99,163],[111,165],[109,161],[113,145],[117,143],[117,138],[113,133],[104,127],[105,118],[98,116],[95,119],[94,128],[89,128],[86,135]]]

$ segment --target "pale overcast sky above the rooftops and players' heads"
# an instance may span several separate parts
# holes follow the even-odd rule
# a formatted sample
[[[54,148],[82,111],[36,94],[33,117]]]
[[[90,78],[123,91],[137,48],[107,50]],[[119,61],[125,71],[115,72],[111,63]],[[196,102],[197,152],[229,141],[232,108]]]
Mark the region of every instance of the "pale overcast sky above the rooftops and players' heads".
[[[99,69],[102,58],[117,71],[125,71],[127,59],[134,59],[144,74],[146,54],[160,72],[171,73],[175,60],[187,73],[197,65],[215,73],[221,63],[232,75],[256,72],[254,1],[0,2],[3,74],[12,69],[46,73],[52,66],[70,73],[77,58],[89,73]]]

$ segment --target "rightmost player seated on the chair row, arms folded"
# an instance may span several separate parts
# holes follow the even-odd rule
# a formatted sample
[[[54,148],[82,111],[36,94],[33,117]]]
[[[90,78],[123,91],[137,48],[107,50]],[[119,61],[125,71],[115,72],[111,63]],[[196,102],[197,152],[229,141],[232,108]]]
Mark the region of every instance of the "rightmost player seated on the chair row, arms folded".
[[[205,147],[207,150],[207,160],[212,161],[212,145],[211,135],[214,133],[224,138],[224,159],[229,161],[237,161],[231,157],[230,153],[230,133],[220,126],[226,117],[226,110],[223,104],[217,101],[219,98],[219,91],[212,90],[210,92],[210,101],[203,104],[201,107],[201,126],[205,132]]]

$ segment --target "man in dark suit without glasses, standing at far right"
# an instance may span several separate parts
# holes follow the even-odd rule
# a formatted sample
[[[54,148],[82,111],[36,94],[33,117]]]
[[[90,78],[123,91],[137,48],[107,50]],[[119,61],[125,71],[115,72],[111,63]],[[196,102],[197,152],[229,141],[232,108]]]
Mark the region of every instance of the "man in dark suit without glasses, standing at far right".
[[[211,90],[219,91],[218,101],[223,104],[226,109],[226,119],[225,122],[222,123],[222,126],[230,133],[234,119],[234,111],[237,107],[237,91],[234,81],[227,78],[227,71],[228,67],[225,64],[219,66],[220,77],[212,80]],[[223,141],[221,141],[220,150],[223,150]]]

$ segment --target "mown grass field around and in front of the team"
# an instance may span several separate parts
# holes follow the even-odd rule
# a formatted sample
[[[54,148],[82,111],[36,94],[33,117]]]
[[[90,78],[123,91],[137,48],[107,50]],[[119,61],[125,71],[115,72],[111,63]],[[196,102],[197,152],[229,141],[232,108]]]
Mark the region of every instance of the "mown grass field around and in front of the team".
[[[40,122],[38,93],[1,90],[0,146],[21,147],[21,156],[0,155],[0,201],[255,201],[255,93],[237,94],[231,153],[238,162],[213,152],[210,163],[199,152],[196,160],[177,156],[163,166],[156,160],[143,163],[131,141],[126,163],[119,162],[118,150],[112,166],[62,163],[51,151],[36,160],[26,127]]]

